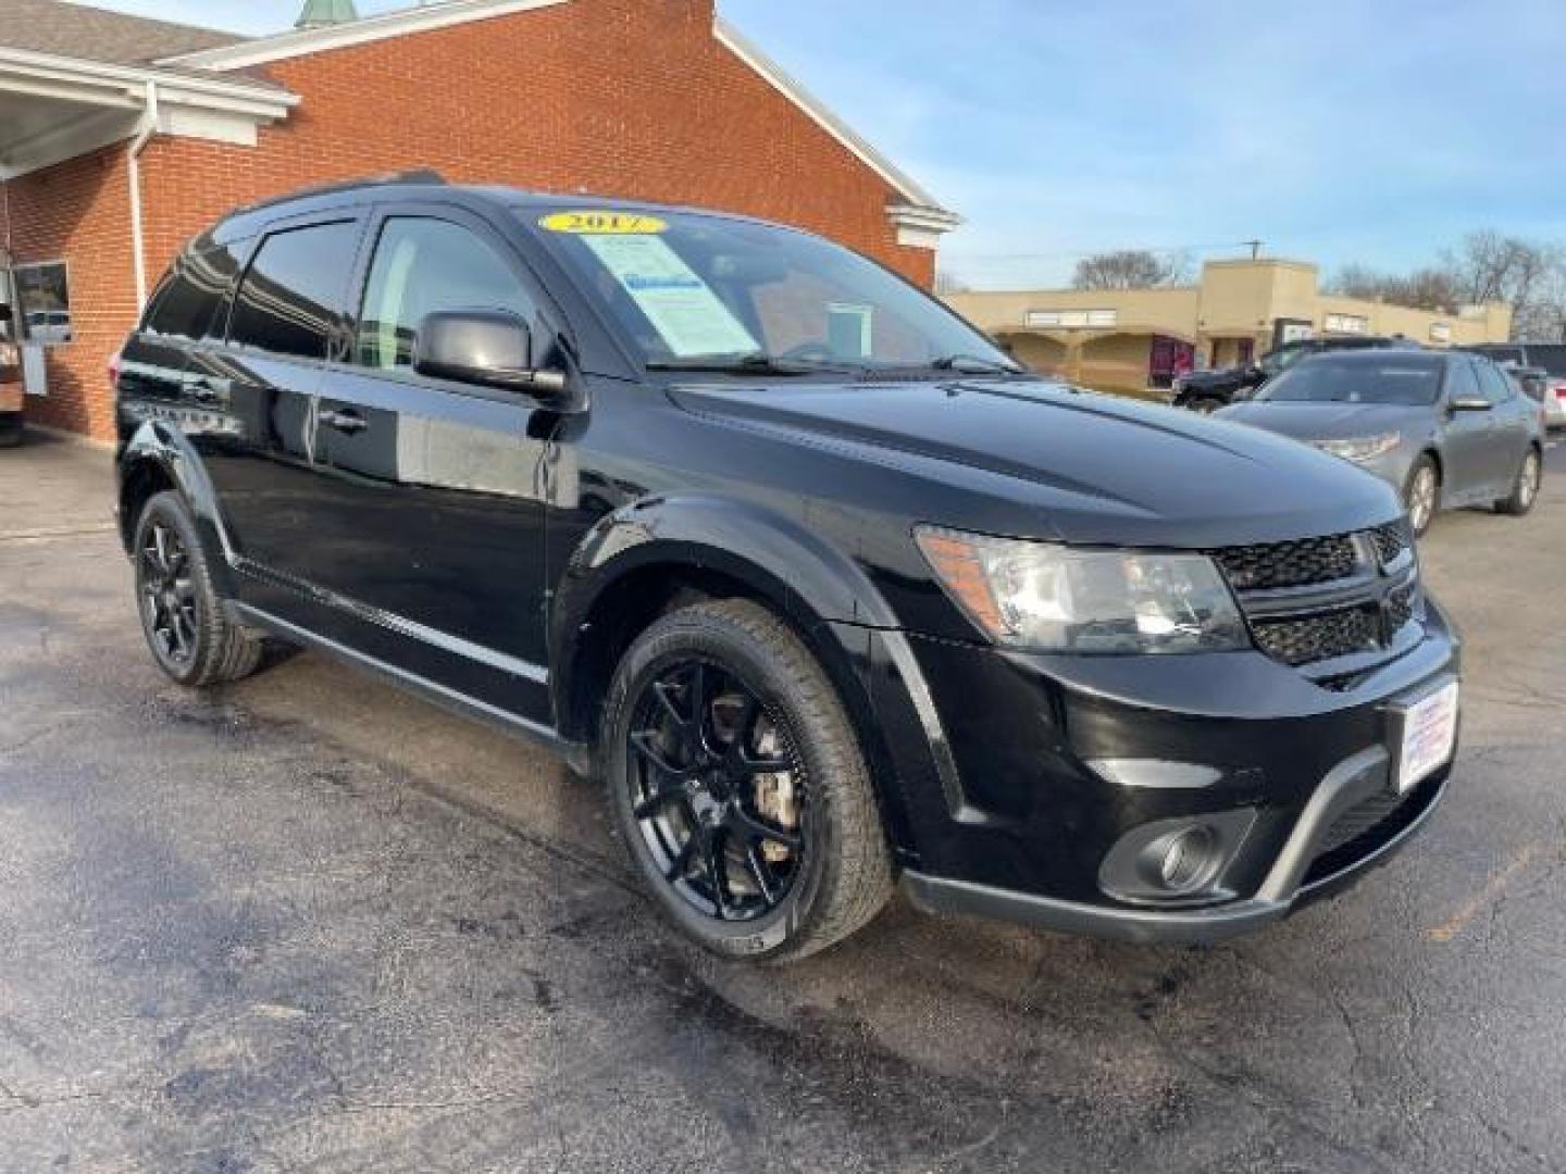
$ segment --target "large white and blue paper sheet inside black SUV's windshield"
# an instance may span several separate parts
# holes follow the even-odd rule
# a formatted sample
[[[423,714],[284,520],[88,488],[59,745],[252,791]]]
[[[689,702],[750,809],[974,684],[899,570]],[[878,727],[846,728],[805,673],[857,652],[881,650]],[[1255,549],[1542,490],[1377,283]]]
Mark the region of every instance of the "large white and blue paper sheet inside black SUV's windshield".
[[[661,236],[584,235],[677,358],[760,351],[713,288]]]

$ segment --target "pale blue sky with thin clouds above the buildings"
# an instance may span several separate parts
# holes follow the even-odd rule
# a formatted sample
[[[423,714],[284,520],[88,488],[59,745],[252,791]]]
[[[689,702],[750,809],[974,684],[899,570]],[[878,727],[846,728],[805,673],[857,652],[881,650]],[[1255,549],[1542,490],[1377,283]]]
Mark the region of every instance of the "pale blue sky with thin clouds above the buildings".
[[[1566,241],[1561,0],[719,3],[968,219],[944,266],[982,288],[1112,247],[1261,238],[1333,269],[1483,227]],[[260,33],[299,0],[108,6]]]

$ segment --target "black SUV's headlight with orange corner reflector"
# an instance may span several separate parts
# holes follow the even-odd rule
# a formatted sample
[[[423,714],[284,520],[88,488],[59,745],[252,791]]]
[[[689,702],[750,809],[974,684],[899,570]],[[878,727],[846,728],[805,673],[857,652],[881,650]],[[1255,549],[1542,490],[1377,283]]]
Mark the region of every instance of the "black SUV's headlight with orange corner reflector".
[[[1062,653],[1248,648],[1234,595],[1201,554],[1084,551],[919,526],[947,593],[996,643]]]

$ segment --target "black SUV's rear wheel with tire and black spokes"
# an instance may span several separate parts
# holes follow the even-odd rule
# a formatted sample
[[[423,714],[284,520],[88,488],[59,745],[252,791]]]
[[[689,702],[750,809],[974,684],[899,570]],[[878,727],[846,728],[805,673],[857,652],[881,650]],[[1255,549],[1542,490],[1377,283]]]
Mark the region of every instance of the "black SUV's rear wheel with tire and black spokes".
[[[179,493],[158,493],[136,521],[136,606],[152,659],[199,689],[255,672],[262,640],[235,625],[211,579],[196,520]]]

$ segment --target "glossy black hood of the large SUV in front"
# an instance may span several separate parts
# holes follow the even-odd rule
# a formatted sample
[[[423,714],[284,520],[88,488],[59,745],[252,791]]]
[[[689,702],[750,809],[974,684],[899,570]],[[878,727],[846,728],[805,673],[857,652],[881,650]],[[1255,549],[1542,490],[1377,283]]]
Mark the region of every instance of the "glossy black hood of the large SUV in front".
[[[1204,548],[1400,512],[1378,479],[1315,449],[1048,382],[725,384],[670,396],[717,424],[938,482],[947,492],[921,499],[929,521],[994,534]]]

